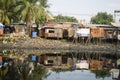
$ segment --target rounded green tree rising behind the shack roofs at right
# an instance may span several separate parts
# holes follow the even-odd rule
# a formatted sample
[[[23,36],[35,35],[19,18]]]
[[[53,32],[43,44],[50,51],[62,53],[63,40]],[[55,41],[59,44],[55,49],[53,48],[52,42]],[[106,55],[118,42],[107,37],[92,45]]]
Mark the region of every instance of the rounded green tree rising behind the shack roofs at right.
[[[96,16],[93,16],[90,21],[92,24],[110,24],[113,22],[113,16],[106,12],[99,12]]]

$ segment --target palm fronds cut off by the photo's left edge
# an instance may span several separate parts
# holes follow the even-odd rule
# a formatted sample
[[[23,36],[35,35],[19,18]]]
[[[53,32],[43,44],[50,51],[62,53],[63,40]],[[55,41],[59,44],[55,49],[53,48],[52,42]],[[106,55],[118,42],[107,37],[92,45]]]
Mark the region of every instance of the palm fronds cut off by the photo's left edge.
[[[0,21],[2,23],[10,24],[14,15],[14,8],[17,6],[18,0],[0,0]]]

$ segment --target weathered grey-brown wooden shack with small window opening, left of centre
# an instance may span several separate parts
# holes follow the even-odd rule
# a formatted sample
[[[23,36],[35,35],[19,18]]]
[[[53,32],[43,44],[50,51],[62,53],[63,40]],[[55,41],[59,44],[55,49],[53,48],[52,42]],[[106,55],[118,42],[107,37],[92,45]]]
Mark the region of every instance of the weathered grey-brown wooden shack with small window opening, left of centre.
[[[39,36],[45,38],[63,38],[63,29],[61,24],[47,24],[39,30]]]

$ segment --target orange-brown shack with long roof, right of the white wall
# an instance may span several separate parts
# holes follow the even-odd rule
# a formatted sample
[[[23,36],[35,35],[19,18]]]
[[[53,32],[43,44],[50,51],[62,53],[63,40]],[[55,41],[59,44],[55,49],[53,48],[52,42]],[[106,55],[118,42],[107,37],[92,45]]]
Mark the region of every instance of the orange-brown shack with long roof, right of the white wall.
[[[106,39],[117,38],[117,27],[101,24],[87,24],[86,26],[93,29],[91,30],[92,37],[102,37]]]

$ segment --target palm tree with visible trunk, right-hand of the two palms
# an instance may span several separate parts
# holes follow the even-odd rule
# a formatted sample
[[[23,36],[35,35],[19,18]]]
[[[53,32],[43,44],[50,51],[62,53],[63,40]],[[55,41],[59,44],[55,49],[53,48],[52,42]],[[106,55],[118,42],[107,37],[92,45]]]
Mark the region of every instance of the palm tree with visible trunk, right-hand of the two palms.
[[[47,0],[21,0],[22,4],[19,6],[20,16],[27,25],[27,33],[31,32],[31,21],[35,20],[37,24],[43,24],[46,21],[47,13],[45,8],[47,7]],[[37,4],[38,3],[38,4]]]

